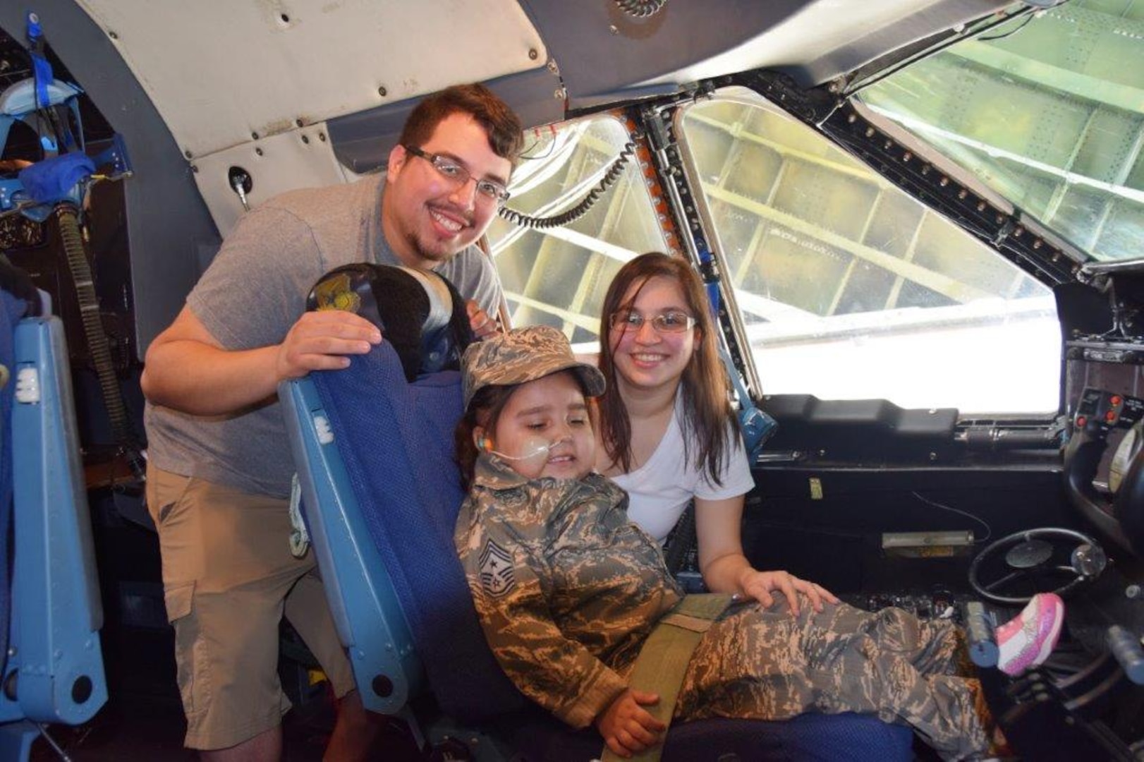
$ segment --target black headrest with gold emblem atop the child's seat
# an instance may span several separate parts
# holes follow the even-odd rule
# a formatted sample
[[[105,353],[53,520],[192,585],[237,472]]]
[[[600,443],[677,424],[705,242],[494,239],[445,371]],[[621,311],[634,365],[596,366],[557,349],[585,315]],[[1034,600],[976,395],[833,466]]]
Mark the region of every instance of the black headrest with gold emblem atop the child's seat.
[[[464,300],[432,271],[345,264],[318,279],[305,308],[347,310],[376,325],[397,351],[407,381],[459,370],[461,354],[474,341]]]

